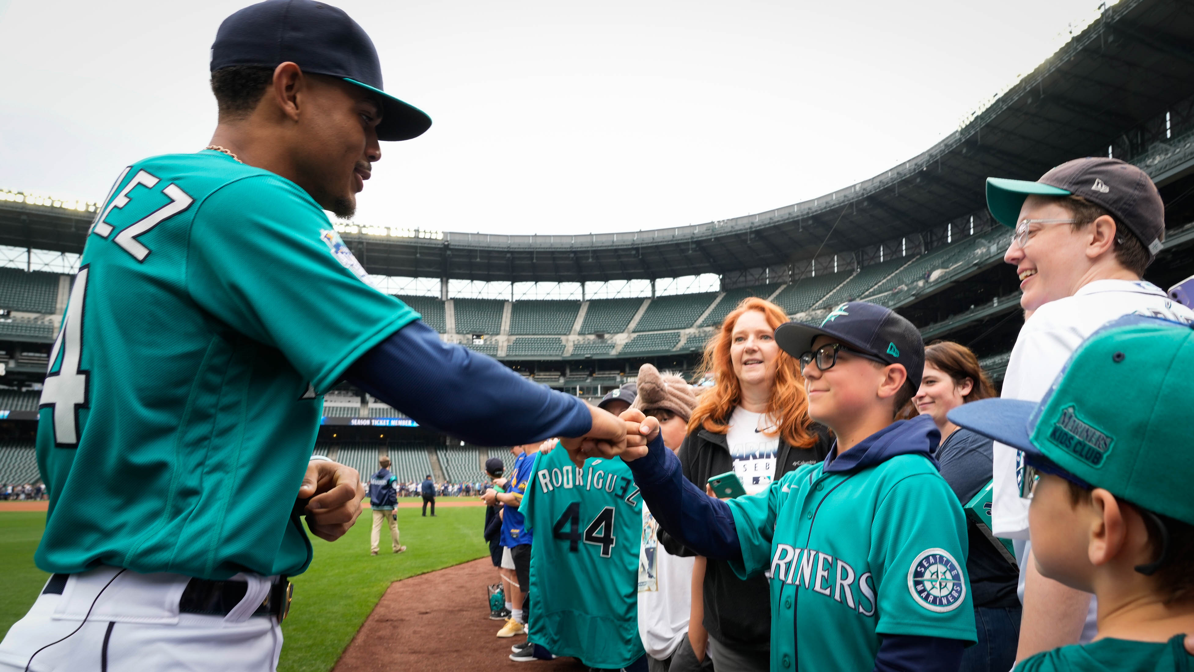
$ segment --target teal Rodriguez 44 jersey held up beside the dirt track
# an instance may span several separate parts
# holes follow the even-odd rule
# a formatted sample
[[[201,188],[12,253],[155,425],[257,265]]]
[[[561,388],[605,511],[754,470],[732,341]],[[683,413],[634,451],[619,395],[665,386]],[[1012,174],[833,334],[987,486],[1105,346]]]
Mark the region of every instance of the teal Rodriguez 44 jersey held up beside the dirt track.
[[[590,667],[616,670],[641,658],[642,499],[626,463],[590,457],[578,468],[556,446],[535,461],[522,512],[536,529],[527,641]]]

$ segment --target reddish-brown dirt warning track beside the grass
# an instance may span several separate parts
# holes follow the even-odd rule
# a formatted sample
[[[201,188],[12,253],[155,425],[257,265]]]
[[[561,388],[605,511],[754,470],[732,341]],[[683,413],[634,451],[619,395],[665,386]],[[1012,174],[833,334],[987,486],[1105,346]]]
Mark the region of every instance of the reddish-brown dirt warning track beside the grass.
[[[510,647],[527,637],[494,636],[501,621],[490,621],[485,586],[496,582],[498,571],[488,557],[482,557],[392,584],[336,664],[334,672],[586,670],[573,658],[510,660]]]

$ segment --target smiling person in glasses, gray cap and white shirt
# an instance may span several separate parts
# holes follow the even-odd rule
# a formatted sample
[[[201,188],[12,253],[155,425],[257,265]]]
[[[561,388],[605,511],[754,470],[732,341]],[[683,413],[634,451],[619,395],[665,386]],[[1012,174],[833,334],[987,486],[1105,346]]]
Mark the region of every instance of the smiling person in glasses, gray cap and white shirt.
[[[1004,261],[1016,266],[1021,329],[1003,381],[1003,397],[1040,401],[1070,355],[1103,323],[1140,313],[1189,322],[1194,313],[1140,279],[1163,247],[1165,206],[1140,168],[1118,159],[1075,159],[1036,181],[989,178],[986,201],[1015,229]],[[1042,577],[1032,557],[1028,500],[1020,497],[1022,457],[993,446],[992,528],[1015,541],[1023,617],[1017,660],[1089,642],[1089,593]]]

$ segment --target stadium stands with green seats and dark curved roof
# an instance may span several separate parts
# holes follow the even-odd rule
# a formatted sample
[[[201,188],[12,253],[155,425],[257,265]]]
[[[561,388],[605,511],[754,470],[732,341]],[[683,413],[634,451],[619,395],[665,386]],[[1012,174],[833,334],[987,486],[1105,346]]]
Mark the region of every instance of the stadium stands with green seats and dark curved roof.
[[[1194,193],[1190,44],[1190,4],[1124,0],[921,155],[870,180],[769,212],[566,236],[339,228],[357,258],[380,276],[721,278],[718,292],[653,300],[507,302],[453,298],[447,291],[439,300],[402,297],[445,339],[511,360],[618,358],[633,364],[691,355],[747,295],[769,297],[805,319],[849,298],[878,301],[921,325],[927,337],[977,343],[980,355],[999,356],[1010,347],[1018,321],[1013,319],[1015,278],[1001,267],[1008,232],[992,226],[985,209],[987,175],[1030,179],[1082,155],[1131,160],[1158,183],[1168,206],[1167,247],[1151,278],[1165,284],[1194,272],[1188,254],[1194,229],[1187,226],[1194,221],[1194,199],[1188,198]],[[0,245],[78,253],[94,210],[94,203],[27,202],[24,195],[0,192]],[[0,277],[0,309],[20,310],[6,304],[2,283]],[[59,286],[59,301],[67,288]],[[0,317],[0,339],[44,341],[53,333],[44,316],[14,315],[7,323]],[[531,370],[542,370],[548,381],[568,381],[571,372],[566,362]],[[598,374],[585,377],[604,380]]]

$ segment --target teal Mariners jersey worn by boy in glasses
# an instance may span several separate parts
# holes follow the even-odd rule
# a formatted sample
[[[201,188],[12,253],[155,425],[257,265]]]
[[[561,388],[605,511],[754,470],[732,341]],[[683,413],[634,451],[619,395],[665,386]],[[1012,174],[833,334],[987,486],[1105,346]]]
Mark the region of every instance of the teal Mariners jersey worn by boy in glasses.
[[[933,463],[823,468],[728,501],[731,566],[771,584],[771,670],[870,670],[881,635],[974,642],[965,518]]]

